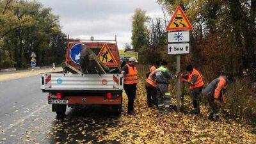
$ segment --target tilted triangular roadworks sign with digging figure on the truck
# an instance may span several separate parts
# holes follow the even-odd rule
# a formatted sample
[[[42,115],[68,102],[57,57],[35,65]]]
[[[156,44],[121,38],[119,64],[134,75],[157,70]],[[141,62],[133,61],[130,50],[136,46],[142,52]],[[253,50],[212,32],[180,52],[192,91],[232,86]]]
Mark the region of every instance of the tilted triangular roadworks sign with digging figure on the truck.
[[[103,47],[100,49],[98,58],[100,61],[102,61],[102,63],[104,63],[104,65],[117,66],[115,57],[113,56],[107,44],[104,44]]]

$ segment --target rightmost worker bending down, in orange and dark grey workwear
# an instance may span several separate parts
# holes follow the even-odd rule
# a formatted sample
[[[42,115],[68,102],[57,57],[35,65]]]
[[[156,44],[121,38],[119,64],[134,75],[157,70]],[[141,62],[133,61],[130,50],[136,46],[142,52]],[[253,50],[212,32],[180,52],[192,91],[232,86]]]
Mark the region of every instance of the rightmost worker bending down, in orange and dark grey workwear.
[[[232,82],[232,76],[220,76],[214,79],[206,88],[204,88],[202,95],[207,102],[209,102],[210,115],[209,120],[219,121],[220,108],[225,99],[225,92],[228,84]]]

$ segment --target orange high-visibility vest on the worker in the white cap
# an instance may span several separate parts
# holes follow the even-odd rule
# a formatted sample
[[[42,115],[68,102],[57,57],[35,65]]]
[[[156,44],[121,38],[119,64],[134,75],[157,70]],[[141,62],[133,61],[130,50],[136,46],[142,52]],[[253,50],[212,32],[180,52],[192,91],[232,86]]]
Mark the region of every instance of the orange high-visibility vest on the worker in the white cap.
[[[136,84],[138,81],[138,70],[127,64],[128,74],[124,75],[124,84]]]

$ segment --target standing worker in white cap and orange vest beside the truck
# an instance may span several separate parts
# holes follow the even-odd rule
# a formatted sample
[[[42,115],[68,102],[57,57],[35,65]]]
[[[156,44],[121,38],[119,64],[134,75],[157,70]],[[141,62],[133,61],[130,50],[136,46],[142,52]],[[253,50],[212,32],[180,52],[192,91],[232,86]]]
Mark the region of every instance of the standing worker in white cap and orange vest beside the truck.
[[[135,67],[135,63],[138,63],[136,58],[129,58],[128,64],[126,64],[121,70],[121,74],[124,74],[124,90],[128,97],[128,115],[135,115],[134,100],[136,97],[138,83],[138,70]]]

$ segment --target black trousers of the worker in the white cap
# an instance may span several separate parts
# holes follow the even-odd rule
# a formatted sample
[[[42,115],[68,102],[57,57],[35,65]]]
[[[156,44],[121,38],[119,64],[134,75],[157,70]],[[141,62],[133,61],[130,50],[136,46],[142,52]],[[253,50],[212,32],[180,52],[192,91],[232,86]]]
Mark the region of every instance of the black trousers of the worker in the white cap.
[[[134,100],[136,97],[137,84],[124,84],[124,91],[128,97],[128,111],[133,111]]]

